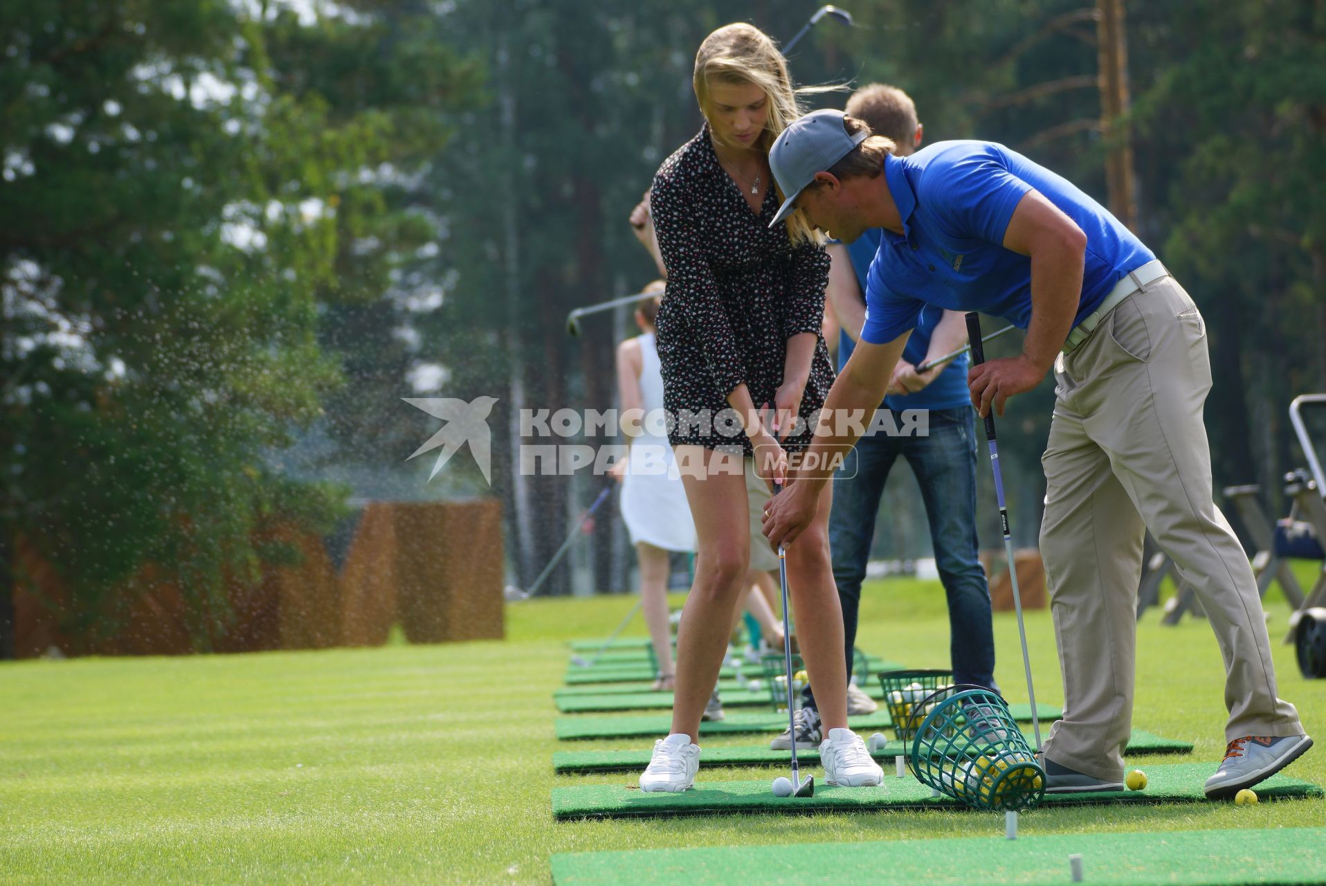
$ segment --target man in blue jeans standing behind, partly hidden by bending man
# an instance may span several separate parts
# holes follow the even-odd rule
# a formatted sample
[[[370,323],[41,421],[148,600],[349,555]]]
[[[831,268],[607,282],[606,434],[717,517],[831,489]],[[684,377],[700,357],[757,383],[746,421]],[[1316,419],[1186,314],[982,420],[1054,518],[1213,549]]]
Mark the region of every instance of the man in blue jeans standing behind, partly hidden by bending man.
[[[907,157],[920,146],[923,130],[916,118],[916,106],[896,86],[862,86],[847,99],[847,113],[865,121],[876,135],[894,142],[896,157]],[[880,228],[871,228],[855,243],[829,247],[833,268],[829,272],[827,296],[842,326],[838,338],[839,371],[861,334],[866,309],[866,277],[882,236]],[[916,371],[916,366],[927,358],[951,354],[965,344],[967,325],[960,313],[927,306],[894,371],[888,397],[880,403],[880,409],[891,410],[895,415],[907,410],[924,411],[926,432],[891,435],[878,431],[862,436],[834,475],[829,549],[833,553],[834,584],[842,602],[849,676],[854,664],[861,584],[866,578],[875,517],[888,474],[894,463],[903,458],[920,487],[935,565],[948,602],[953,680],[998,688],[994,684],[989,586],[977,558],[976,419],[967,390],[968,359],[964,354],[924,373]],[[790,747],[792,732],[792,728],[784,729],[769,747]],[[808,686],[796,719],[797,747],[818,748],[822,737],[814,694]]]

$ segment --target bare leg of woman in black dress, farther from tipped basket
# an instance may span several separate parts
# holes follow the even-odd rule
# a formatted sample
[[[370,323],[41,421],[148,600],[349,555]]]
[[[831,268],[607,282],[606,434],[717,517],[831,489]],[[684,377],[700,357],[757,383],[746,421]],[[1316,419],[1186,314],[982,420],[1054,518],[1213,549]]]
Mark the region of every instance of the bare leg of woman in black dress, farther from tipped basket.
[[[696,741],[704,706],[713,694],[728,649],[731,614],[745,584],[751,560],[751,519],[740,452],[732,455],[700,446],[679,446],[676,458],[682,466],[682,483],[691,504],[699,549],[695,554],[695,582],[676,631],[672,732],[690,735]],[[838,630],[838,663],[843,667],[842,625]]]

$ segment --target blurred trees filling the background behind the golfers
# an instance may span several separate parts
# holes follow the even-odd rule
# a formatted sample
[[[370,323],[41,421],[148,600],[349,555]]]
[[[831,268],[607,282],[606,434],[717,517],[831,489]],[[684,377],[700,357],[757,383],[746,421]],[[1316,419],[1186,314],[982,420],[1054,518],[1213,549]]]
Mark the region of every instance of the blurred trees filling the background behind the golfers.
[[[898,84],[928,141],[1000,141],[1105,199],[1091,0],[843,5],[858,27],[814,29],[798,81]],[[0,545],[45,540],[93,621],[145,558],[224,619],[274,513],[487,493],[468,456],[432,484],[403,464],[435,427],[399,401],[487,394],[529,581],[605,480],[518,477],[512,420],[613,405],[627,312],[579,340],[562,318],[654,276],[625,219],[699,129],[695,48],[733,20],[786,40],[814,8],[0,0]],[[1209,322],[1217,488],[1273,492],[1288,399],[1326,389],[1323,36],[1319,1],[1127,9],[1138,225]],[[1001,427],[1022,542],[1052,398]],[[920,553],[914,499],[891,489],[882,552]],[[582,580],[618,589],[629,561],[601,513]]]

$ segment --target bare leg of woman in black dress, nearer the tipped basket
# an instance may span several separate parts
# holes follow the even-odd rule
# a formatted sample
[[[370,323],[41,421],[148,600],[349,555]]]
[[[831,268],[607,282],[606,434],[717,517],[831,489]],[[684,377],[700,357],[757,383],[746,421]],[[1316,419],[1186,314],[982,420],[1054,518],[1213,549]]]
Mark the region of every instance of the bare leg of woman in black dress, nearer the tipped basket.
[[[797,619],[797,642],[806,662],[823,733],[847,726],[847,664],[843,661],[842,605],[829,558],[831,484],[825,484],[815,519],[788,546],[788,593]]]

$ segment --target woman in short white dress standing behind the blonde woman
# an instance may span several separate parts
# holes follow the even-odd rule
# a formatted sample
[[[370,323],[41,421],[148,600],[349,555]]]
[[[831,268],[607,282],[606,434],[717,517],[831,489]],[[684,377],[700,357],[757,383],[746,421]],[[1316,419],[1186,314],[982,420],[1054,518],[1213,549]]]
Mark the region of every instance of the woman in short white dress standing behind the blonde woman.
[[[668,627],[667,580],[668,552],[695,550],[695,523],[686,499],[686,487],[667,442],[663,412],[663,374],[655,346],[654,318],[664,284],[655,280],[644,288],[647,293],[635,308],[635,322],[640,334],[627,338],[617,348],[617,383],[622,397],[622,414],[639,410],[639,422],[623,422],[630,443],[630,458],[622,459],[613,476],[622,481],[621,512],[626,531],[635,546],[640,569],[640,597],[644,623],[658,659],[655,690],[672,690],[672,637]],[[752,581],[756,573],[752,570]],[[751,584],[751,582],[748,582]],[[770,646],[781,647],[782,630],[765,598],[756,590],[743,594],[745,606]],[[733,619],[740,614],[733,613]],[[707,708],[707,719],[721,719],[717,694]]]

